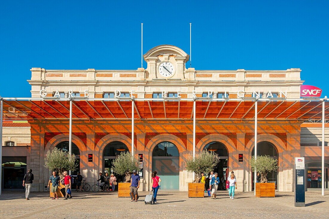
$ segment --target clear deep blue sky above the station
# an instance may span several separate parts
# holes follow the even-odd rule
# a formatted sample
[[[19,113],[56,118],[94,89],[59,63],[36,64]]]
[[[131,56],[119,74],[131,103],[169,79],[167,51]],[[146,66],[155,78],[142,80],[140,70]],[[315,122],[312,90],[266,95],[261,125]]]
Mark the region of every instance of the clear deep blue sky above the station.
[[[121,3],[122,2],[122,3]],[[301,68],[329,96],[329,1],[2,1],[0,95],[30,97],[31,67],[137,69],[160,44],[200,70]],[[146,63],[143,64],[146,67]]]

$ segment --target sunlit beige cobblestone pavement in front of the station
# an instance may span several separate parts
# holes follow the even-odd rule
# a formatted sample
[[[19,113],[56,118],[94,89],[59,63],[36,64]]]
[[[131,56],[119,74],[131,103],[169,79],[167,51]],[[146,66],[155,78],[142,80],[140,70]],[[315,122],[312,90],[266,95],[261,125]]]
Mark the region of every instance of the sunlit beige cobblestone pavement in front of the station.
[[[275,198],[256,198],[253,192],[237,192],[231,200],[226,191],[217,199],[188,198],[187,192],[159,190],[158,203],[145,205],[147,192],[139,192],[139,201],[118,198],[117,192],[78,192],[72,199],[51,200],[46,192],[3,192],[0,218],[329,218],[329,192],[306,192],[306,207],[294,207],[293,192],[277,192]]]

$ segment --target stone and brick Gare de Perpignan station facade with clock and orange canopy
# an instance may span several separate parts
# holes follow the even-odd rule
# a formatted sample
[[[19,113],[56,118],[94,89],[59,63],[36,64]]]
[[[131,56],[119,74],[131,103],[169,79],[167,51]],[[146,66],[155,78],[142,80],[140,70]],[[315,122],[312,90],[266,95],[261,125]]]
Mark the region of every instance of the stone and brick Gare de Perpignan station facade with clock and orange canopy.
[[[18,162],[25,162],[20,171],[32,168],[33,189],[44,190],[50,174],[45,154],[54,147],[68,150],[71,101],[72,153],[87,182],[111,172],[112,160],[133,149],[143,157],[143,190],[150,189],[150,173],[157,170],[163,189],[187,191],[193,174],[185,170],[186,156],[208,150],[221,159],[215,167],[220,176],[234,171],[238,191],[251,191],[248,159],[254,154],[257,107],[257,154],[279,165],[268,180],[278,191],[293,191],[294,158],[304,156],[305,171],[311,171],[306,189],[321,188],[322,180],[328,189],[328,146],[325,172],[318,172],[322,139],[315,121],[321,119],[322,101],[300,98],[299,68],[195,70],[187,68],[189,55],[172,45],[150,49],[144,60],[147,68],[137,70],[32,68],[31,98],[3,100],[3,174],[16,168],[18,179]],[[326,118],[328,107],[325,103]],[[13,188],[5,185],[10,178],[3,175],[3,189]]]

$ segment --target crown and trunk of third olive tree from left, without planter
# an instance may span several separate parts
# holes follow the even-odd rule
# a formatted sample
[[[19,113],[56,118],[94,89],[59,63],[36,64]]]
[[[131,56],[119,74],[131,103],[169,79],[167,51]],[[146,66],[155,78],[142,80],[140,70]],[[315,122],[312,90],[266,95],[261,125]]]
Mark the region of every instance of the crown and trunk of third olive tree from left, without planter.
[[[214,167],[220,161],[215,152],[208,152],[203,150],[201,153],[196,154],[193,159],[193,153],[191,152],[186,158],[185,168],[188,172],[194,172],[196,174],[193,182],[199,183],[201,181],[201,173],[207,173],[214,171]]]

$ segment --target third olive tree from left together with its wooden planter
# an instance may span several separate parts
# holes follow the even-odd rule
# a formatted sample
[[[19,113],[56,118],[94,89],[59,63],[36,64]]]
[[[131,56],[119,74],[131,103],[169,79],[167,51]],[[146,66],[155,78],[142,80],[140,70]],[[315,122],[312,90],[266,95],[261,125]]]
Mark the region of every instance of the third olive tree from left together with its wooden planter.
[[[201,181],[201,173],[207,175],[214,170],[214,167],[220,161],[215,152],[203,150],[196,154],[193,158],[193,153],[190,153],[186,158],[185,168],[188,172],[195,173],[195,178],[192,183],[189,183],[189,197],[204,197],[204,183]]]

